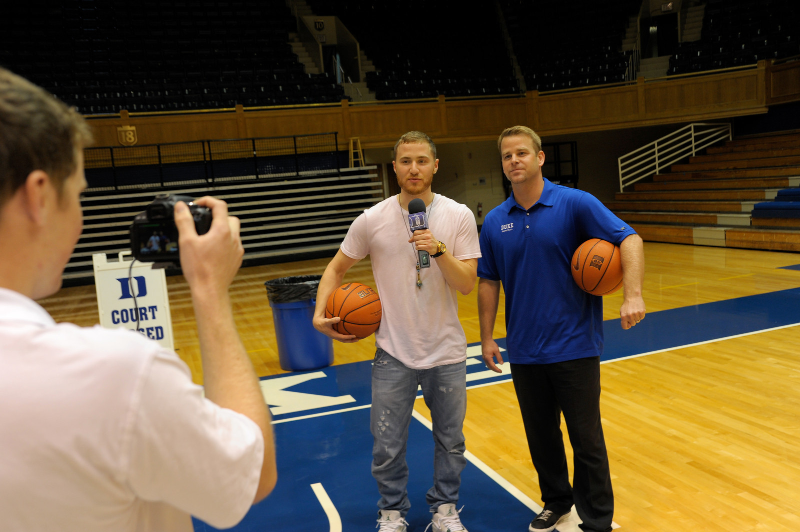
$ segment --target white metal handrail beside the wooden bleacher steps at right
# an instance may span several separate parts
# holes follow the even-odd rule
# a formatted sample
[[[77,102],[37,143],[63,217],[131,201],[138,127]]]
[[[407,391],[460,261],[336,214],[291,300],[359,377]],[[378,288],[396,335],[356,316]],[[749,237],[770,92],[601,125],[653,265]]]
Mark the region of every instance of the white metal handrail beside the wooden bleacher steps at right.
[[[729,123],[694,122],[618,158],[619,191],[715,142],[731,139]]]

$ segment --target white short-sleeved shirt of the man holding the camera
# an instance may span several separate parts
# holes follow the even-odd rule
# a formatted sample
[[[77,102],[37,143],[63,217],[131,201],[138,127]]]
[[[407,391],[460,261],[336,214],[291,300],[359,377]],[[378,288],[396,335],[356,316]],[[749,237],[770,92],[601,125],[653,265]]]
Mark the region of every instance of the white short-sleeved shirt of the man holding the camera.
[[[0,288],[0,530],[226,528],[255,496],[264,441],[171,351],[55,324]]]

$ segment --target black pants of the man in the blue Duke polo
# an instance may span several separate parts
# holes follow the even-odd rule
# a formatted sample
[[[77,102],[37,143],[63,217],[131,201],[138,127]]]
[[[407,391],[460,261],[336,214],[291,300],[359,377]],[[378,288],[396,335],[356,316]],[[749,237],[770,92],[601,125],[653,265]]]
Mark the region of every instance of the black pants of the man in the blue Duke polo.
[[[610,532],[614,493],[600,422],[600,357],[511,364],[522,421],[547,510],[574,504],[582,530]],[[574,451],[574,486],[566,466],[561,413]]]

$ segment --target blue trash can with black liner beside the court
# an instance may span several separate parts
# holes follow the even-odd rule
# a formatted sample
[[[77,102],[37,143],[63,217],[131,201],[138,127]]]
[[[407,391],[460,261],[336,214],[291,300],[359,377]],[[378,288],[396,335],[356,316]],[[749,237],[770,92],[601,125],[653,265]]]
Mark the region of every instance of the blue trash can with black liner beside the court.
[[[281,369],[306,371],[334,362],[334,340],[311,323],[321,277],[280,277],[264,283],[272,308]]]

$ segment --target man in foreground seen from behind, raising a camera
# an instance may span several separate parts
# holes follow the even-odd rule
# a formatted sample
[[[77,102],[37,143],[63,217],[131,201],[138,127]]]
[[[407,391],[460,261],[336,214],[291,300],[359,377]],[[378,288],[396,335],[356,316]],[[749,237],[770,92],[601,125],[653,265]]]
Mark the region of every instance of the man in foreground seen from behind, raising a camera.
[[[55,324],[34,302],[61,286],[82,232],[83,118],[0,68],[0,529],[234,526],[276,481],[270,414],[234,324],[239,223],[205,197],[198,236],[175,207],[205,379],[138,332]]]

